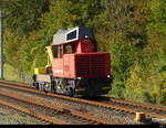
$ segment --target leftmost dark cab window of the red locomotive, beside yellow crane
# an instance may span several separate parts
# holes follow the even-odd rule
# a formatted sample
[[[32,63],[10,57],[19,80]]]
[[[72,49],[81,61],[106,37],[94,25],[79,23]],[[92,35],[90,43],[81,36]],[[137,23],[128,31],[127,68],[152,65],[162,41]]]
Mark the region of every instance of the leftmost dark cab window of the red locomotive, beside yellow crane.
[[[52,46],[53,57],[61,58],[62,57],[62,45]]]

